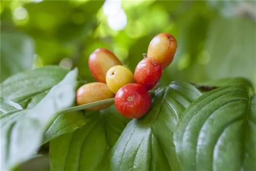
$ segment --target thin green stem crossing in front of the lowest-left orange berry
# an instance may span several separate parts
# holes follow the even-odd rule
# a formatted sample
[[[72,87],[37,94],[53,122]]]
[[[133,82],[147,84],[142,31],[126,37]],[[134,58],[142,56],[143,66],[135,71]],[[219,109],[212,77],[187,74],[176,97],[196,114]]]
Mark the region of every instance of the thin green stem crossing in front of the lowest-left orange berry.
[[[92,102],[92,103],[87,103],[87,104],[82,104],[82,105],[74,106],[72,108],[63,109],[59,113],[67,113],[67,112],[80,111],[80,110],[92,108],[92,107],[97,106],[97,105],[102,105],[102,104],[106,104],[106,103],[113,103],[114,99],[115,98],[105,99],[105,100],[95,101],[95,102]]]

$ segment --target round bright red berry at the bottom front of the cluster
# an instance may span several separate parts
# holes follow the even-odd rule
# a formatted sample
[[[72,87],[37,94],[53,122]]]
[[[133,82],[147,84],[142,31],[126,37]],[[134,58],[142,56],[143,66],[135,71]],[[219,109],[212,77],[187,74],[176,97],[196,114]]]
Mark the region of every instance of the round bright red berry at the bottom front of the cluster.
[[[150,110],[151,96],[144,86],[129,83],[116,93],[115,105],[124,117],[139,118]]]

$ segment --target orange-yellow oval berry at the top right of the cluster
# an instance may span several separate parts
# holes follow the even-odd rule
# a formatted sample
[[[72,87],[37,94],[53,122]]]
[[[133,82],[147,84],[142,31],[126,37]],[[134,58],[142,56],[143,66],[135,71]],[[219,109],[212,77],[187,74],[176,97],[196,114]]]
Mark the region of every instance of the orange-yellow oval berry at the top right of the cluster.
[[[157,59],[161,62],[162,69],[165,69],[173,61],[176,49],[177,41],[174,36],[160,33],[151,40],[147,49],[147,57]]]

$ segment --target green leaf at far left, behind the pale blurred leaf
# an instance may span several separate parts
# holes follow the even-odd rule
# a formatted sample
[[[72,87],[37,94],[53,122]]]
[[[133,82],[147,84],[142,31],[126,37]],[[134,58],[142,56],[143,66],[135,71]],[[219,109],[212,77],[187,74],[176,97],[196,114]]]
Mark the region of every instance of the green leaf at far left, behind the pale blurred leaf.
[[[30,102],[33,106],[67,73],[68,70],[58,66],[47,66],[18,73],[0,84],[1,97],[23,104],[23,108],[27,108]]]

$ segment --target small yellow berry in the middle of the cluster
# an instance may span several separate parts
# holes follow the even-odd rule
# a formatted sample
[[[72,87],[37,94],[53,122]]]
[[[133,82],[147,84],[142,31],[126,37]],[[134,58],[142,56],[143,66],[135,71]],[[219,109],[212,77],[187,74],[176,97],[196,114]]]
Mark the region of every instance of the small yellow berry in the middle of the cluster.
[[[134,82],[133,73],[123,66],[114,66],[106,73],[106,84],[115,94],[125,84],[132,82]]]

